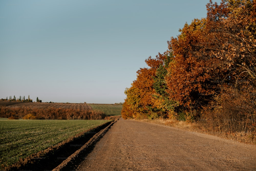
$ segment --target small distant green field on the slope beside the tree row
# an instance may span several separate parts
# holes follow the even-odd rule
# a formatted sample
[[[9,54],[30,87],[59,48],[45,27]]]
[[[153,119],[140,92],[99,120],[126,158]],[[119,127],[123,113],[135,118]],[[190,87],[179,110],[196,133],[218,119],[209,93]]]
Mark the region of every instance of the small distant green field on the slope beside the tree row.
[[[100,110],[107,116],[118,116],[121,115],[123,105],[120,104],[87,104],[92,107],[93,110]]]

